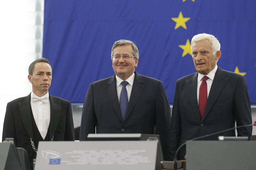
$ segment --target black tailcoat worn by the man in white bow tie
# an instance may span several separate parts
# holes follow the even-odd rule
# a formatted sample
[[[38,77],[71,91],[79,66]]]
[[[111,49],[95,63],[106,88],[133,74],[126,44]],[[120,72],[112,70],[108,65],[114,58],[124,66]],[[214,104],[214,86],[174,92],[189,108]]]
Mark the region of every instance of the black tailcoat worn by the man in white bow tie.
[[[50,138],[53,136],[53,141],[74,140],[74,124],[70,102],[52,95],[49,95],[49,99],[51,109]],[[34,141],[30,94],[7,103],[2,140],[7,137],[14,138],[16,147],[26,149],[30,163],[33,162],[31,159],[35,151],[30,142],[30,138]]]

